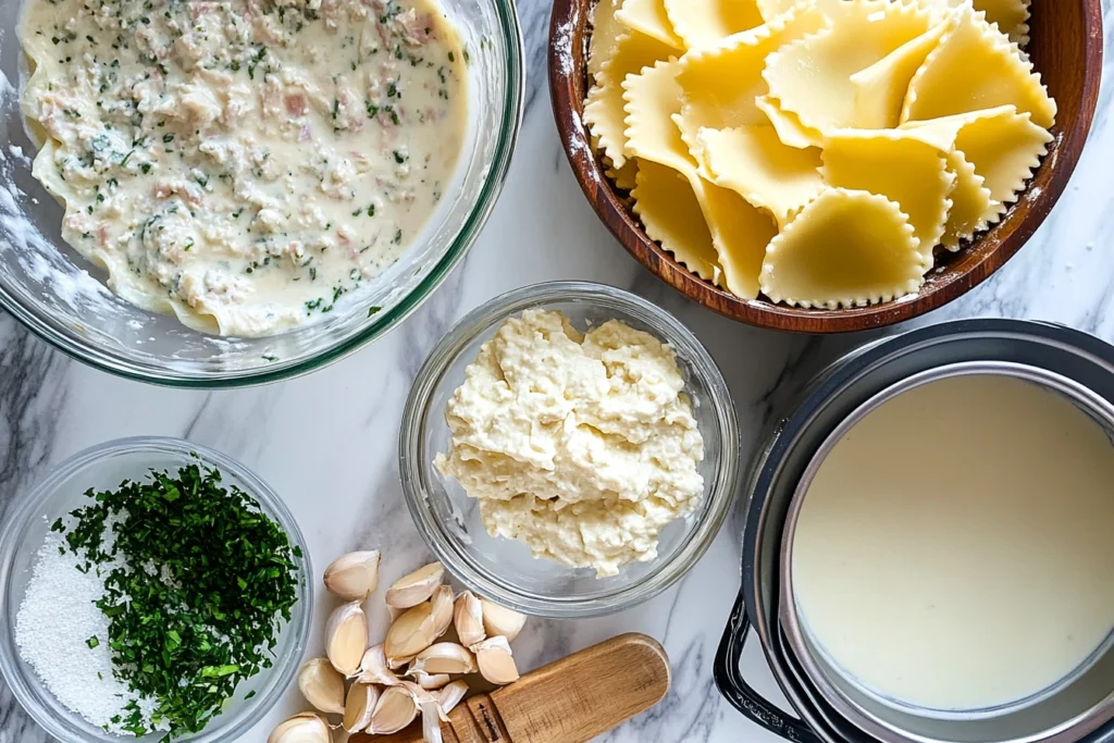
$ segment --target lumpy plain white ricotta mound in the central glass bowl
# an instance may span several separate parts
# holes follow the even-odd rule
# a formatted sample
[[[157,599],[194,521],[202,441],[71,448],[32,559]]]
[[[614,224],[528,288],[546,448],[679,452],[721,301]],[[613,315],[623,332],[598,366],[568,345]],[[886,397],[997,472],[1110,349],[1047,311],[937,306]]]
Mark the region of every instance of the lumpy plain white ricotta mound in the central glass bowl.
[[[597,577],[652,560],[704,492],[704,440],[673,350],[612,320],[527,311],[480,348],[446,409],[439,471],[492,536]]]

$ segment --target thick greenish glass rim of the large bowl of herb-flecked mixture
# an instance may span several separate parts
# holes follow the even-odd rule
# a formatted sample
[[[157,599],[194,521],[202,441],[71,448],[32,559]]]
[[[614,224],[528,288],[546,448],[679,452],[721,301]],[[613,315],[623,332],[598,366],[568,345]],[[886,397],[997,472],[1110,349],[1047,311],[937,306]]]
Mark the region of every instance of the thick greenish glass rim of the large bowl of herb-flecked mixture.
[[[62,323],[52,322],[51,319],[41,319],[37,312],[25,307],[3,284],[0,284],[0,310],[8,312],[20,325],[46,341],[51,348],[94,369],[124,379],[185,389],[216,390],[294,379],[340,361],[368,343],[385,335],[429,299],[465,258],[491,216],[510,170],[510,163],[522,125],[526,100],[526,52],[518,9],[514,0],[490,0],[490,2],[495,7],[507,51],[505,58],[507,87],[504,94],[502,117],[499,131],[496,135],[490,170],[480,186],[479,197],[471,206],[460,232],[452,239],[444,255],[398,304],[378,314],[374,321],[368,323],[360,331],[299,361],[273,363],[247,371],[183,372],[166,365],[154,368],[136,364],[105,351],[99,345],[82,342],[77,336],[71,338],[55,327],[56,324]],[[300,330],[304,331],[309,327],[304,326]]]

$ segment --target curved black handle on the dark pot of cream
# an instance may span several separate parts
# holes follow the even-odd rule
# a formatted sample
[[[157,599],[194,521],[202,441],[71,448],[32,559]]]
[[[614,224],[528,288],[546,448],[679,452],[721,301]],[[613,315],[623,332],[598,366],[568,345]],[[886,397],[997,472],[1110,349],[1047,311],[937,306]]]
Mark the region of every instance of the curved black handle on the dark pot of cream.
[[[712,673],[720,693],[731,702],[731,705],[743,713],[752,722],[766,729],[774,735],[798,743],[821,743],[820,737],[800,720],[789,717],[781,710],[764,700],[743,678],[739,662],[746,645],[746,635],[751,620],[746,616],[746,604],[743,592],[739,592],[735,606],[731,610],[727,628],[723,630],[720,649],[715,654]]]

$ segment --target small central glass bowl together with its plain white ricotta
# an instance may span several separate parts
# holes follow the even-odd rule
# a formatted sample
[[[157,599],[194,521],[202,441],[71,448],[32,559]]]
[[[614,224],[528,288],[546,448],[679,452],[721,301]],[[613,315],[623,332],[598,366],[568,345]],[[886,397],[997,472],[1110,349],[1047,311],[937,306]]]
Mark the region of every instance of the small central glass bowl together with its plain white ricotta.
[[[438,344],[399,467],[418,530],[469,588],[586,617],[696,564],[739,489],[739,446],[727,385],[687,327],[628,292],[553,282],[491,300]]]

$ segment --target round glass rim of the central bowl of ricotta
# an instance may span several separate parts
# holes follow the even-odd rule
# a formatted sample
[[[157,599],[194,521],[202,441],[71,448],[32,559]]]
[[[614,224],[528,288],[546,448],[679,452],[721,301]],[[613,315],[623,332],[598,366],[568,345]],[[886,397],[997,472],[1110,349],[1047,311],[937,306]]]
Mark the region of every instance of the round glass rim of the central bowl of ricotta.
[[[584,302],[631,314],[654,330],[692,368],[709,389],[709,403],[719,427],[720,461],[715,463],[715,488],[707,489],[696,525],[674,553],[653,573],[600,596],[561,599],[539,598],[508,588],[489,571],[472,565],[450,542],[428,506],[431,462],[419,459],[424,422],[433,392],[446,371],[486,330],[507,317],[546,304]],[[496,296],[465,315],[430,352],[414,379],[402,413],[399,433],[399,473],[407,508],[414,526],[439,560],[469,589],[497,604],[525,614],[554,618],[585,618],[628,609],[649,600],[684,577],[704,556],[726,520],[741,486],[740,433],[735,407],[719,366],[701,341],[666,310],[631,292],[584,281],[532,284]]]

